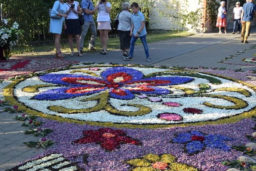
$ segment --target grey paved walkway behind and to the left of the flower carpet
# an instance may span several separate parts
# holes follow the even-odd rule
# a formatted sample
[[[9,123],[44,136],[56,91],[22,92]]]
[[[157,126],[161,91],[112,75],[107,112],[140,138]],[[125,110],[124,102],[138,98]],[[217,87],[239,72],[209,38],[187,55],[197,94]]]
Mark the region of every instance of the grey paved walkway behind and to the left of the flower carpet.
[[[256,44],[256,27],[251,29],[250,37],[248,37],[249,44],[241,43],[240,36],[241,34],[231,34],[231,30],[229,30],[227,34],[197,34],[186,38],[151,43],[148,44],[148,47],[152,62],[146,62],[142,45],[135,47],[133,61],[123,60],[122,51],[120,50],[109,51],[106,55],[98,52],[95,54],[84,54],[83,57],[70,57],[66,54],[67,57],[63,59],[80,62],[134,63],[167,67],[204,66],[241,69],[243,71],[256,70],[256,64],[241,61],[243,58],[255,57],[252,54],[256,53],[256,49],[238,55],[234,59],[229,59],[225,61],[226,63],[217,62]],[[40,53],[31,56],[41,58],[55,57],[54,54],[42,55]],[[0,171],[15,167],[18,162],[44,151],[43,148],[29,148],[22,143],[24,141],[35,141],[38,137],[34,137],[33,134],[25,135],[24,130],[27,128],[22,127],[22,123],[13,119],[15,115],[18,114],[0,113]]]

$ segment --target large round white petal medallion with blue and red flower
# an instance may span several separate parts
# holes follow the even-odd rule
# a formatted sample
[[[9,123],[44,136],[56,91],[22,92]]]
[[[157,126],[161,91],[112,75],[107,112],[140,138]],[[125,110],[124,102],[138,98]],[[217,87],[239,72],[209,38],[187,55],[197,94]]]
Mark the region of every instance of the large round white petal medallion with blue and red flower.
[[[239,116],[256,106],[254,89],[241,82],[163,68],[74,65],[13,81],[3,89],[7,100],[31,114],[103,126],[206,122]]]

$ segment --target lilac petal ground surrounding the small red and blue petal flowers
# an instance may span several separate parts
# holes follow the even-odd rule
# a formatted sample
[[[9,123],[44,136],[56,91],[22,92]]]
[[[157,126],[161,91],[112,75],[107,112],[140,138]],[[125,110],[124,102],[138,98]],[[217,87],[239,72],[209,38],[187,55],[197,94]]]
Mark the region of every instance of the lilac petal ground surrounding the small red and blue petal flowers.
[[[71,161],[78,162],[78,165],[84,170],[109,170],[109,171],[126,171],[129,165],[123,163],[124,160],[141,158],[145,154],[172,154],[177,157],[177,162],[186,163],[195,166],[202,171],[226,171],[228,167],[223,166],[221,161],[235,160],[242,155],[242,152],[231,150],[224,151],[222,149],[206,147],[204,150],[189,156],[182,149],[184,144],[170,143],[177,133],[186,133],[198,131],[203,134],[221,135],[234,139],[233,141],[225,141],[227,146],[246,144],[245,134],[254,132],[251,127],[255,125],[253,119],[243,119],[234,124],[223,125],[204,125],[204,126],[188,126],[188,127],[172,127],[162,129],[128,129],[121,130],[134,139],[141,141],[142,146],[132,144],[122,144],[120,148],[114,149],[112,152],[105,152],[104,149],[96,143],[75,144],[74,140],[83,137],[84,130],[98,130],[103,128],[100,126],[79,125],[73,123],[61,123],[55,120],[44,121],[43,128],[53,129],[53,133],[48,134],[47,139],[56,141],[52,148],[42,154],[34,156],[29,160],[41,158],[47,154],[58,153]],[[117,128],[112,128],[117,129]],[[226,139],[225,139],[226,140]],[[51,147],[51,146],[50,146]],[[87,154],[87,164],[84,161],[84,155]]]

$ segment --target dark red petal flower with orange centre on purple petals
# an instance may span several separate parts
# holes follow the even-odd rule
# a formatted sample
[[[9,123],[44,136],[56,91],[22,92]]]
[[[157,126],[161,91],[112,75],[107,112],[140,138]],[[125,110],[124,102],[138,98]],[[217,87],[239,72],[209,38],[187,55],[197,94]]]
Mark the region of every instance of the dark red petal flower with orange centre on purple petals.
[[[140,145],[140,141],[132,139],[126,136],[126,132],[122,130],[113,130],[111,128],[102,128],[98,130],[84,131],[84,137],[75,140],[74,143],[86,144],[86,143],[99,143],[104,149],[112,151],[120,144],[134,144]]]

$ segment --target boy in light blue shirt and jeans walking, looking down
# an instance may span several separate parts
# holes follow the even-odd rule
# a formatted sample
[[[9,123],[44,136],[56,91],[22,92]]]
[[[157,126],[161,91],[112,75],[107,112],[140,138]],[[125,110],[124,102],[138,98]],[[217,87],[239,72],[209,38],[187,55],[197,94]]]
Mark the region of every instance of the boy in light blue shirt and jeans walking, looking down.
[[[132,23],[131,23],[131,32],[130,36],[131,38],[131,45],[130,45],[130,54],[128,57],[124,57],[124,60],[133,60],[133,51],[134,51],[134,44],[137,41],[138,38],[140,38],[144,50],[147,62],[151,62],[151,59],[149,57],[148,53],[148,47],[147,47],[147,40],[146,40],[146,27],[145,27],[145,16],[142,12],[139,10],[139,5],[136,2],[133,2],[131,4],[131,10],[133,12],[132,14]]]

